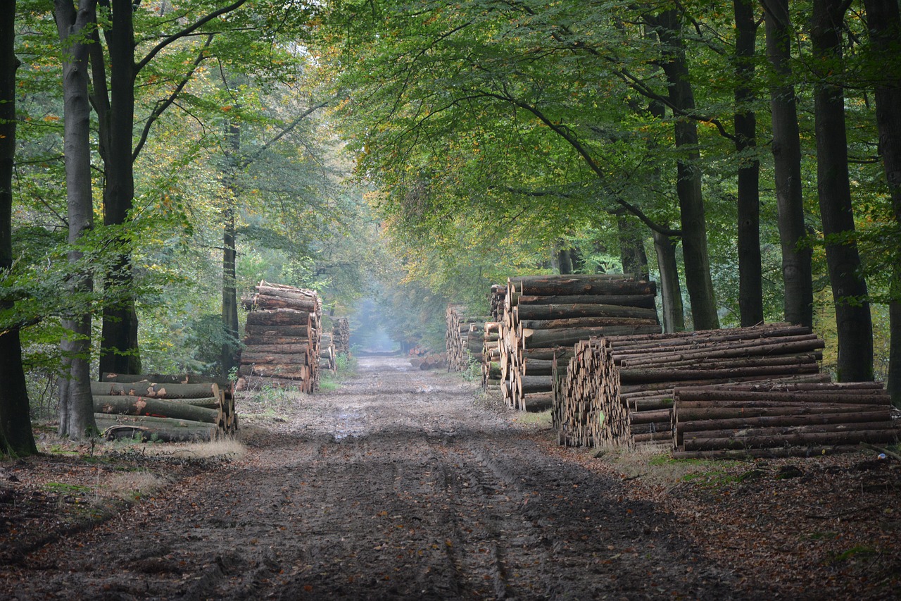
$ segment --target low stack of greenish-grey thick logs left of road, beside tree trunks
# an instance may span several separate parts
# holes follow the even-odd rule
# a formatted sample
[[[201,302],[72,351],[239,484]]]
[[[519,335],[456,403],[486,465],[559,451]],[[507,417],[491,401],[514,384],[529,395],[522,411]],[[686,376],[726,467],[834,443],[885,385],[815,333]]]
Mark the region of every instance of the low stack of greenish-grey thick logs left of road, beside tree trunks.
[[[199,375],[103,374],[91,383],[107,439],[211,440],[238,429],[232,386]]]

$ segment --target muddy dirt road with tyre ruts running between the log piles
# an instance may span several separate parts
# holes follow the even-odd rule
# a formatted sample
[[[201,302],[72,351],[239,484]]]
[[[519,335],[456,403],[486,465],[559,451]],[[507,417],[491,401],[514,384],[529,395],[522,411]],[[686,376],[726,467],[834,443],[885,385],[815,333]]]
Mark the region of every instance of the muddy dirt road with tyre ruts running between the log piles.
[[[239,406],[239,412],[241,408]],[[452,374],[360,361],[250,453],[32,554],[0,596],[723,599],[735,579],[651,504],[542,453]],[[7,585],[4,585],[7,586]]]

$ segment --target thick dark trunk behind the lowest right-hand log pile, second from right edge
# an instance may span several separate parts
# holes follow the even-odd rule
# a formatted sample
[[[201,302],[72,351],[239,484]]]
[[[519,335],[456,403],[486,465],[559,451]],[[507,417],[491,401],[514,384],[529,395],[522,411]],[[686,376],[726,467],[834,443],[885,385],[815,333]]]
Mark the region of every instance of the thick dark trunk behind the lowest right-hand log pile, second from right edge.
[[[844,92],[834,80],[842,73],[844,10],[842,0],[814,3],[811,41],[820,68],[814,86],[816,174],[839,337],[838,379],[859,382],[873,379],[873,327],[853,238]]]

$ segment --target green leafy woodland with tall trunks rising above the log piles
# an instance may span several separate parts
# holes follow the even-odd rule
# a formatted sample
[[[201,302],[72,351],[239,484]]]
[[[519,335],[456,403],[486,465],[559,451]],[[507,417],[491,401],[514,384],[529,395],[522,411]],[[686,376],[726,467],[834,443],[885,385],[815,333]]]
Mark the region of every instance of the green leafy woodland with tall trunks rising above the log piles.
[[[507,276],[635,273],[901,402],[897,0],[0,11],[5,454],[95,431],[98,372],[232,374],[262,279],[437,343]]]

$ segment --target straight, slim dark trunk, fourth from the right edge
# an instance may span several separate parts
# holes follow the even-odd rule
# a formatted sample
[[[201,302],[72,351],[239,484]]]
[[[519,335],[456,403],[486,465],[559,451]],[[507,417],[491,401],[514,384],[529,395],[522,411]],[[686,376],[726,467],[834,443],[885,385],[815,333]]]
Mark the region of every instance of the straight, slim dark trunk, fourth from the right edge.
[[[760,162],[757,160],[754,44],[757,22],[751,0],[733,0],[735,12],[735,151],[738,170],[738,304],[742,326],[763,321],[762,269],[760,266]]]

